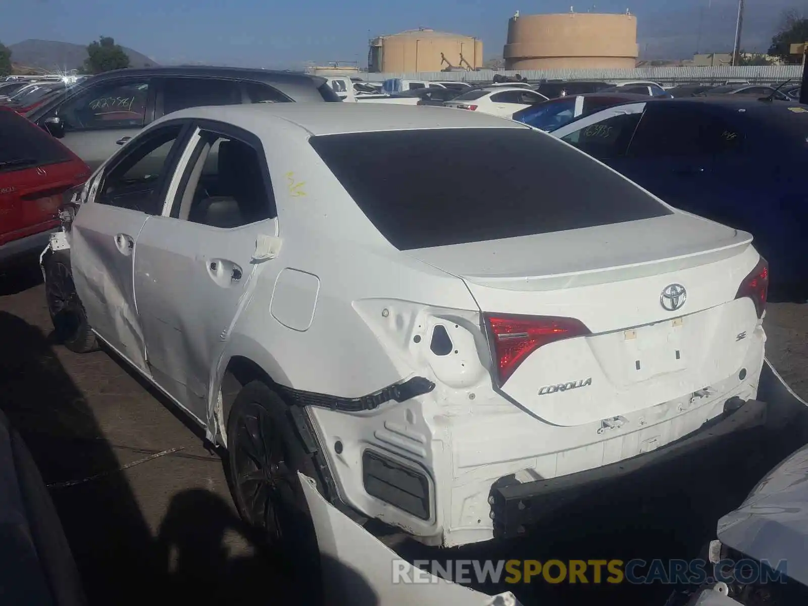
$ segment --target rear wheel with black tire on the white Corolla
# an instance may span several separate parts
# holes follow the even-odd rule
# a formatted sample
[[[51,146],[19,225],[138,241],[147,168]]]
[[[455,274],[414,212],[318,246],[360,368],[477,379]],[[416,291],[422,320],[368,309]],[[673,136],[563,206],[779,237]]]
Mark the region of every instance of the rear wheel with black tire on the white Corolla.
[[[321,599],[314,524],[297,472],[318,480],[287,404],[263,381],[242,387],[227,422],[229,484],[238,513]]]

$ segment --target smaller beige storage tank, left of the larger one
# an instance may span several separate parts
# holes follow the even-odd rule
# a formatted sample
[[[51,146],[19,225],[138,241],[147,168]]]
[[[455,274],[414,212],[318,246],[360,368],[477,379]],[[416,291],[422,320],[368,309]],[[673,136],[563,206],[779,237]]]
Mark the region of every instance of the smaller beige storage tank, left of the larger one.
[[[482,67],[482,41],[424,27],[370,40],[370,72],[414,74],[450,66]]]

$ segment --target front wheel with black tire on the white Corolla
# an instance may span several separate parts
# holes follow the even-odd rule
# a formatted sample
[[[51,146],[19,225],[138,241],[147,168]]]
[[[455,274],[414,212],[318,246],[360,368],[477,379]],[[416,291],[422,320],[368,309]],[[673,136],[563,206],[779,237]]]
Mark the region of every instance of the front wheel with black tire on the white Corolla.
[[[87,322],[84,305],[78,299],[69,251],[56,250],[49,255],[44,261],[44,270],[45,299],[58,342],[76,353],[95,351],[98,342]]]

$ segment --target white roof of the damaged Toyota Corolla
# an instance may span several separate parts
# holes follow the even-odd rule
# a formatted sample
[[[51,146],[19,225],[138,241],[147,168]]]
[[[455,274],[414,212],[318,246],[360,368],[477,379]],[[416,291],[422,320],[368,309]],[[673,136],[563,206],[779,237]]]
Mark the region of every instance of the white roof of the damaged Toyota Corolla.
[[[219,107],[189,107],[158,122],[180,118],[219,120],[247,130],[256,122],[283,120],[312,135],[372,133],[432,128],[528,128],[524,124],[452,107],[382,103],[254,103]],[[158,124],[155,122],[154,124]]]

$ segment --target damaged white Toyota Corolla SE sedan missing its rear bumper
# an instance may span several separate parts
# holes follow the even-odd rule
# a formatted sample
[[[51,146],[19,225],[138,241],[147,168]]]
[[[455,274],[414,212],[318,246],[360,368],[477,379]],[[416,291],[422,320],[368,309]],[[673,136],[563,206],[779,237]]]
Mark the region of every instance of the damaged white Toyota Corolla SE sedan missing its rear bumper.
[[[269,537],[304,528],[296,471],[430,545],[516,536],[755,398],[751,236],[511,120],[189,108],[78,202],[41,259],[56,334],[226,448]]]

